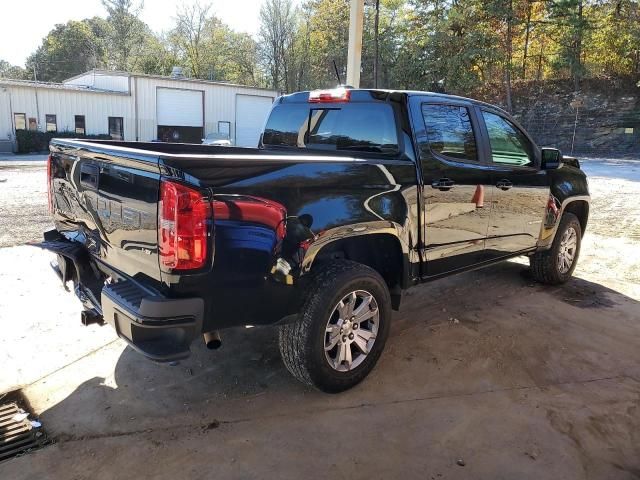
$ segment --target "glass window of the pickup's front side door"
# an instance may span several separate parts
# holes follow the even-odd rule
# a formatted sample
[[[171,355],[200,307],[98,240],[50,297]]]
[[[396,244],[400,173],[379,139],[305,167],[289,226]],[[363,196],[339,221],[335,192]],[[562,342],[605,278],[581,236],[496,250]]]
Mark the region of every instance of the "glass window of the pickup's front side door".
[[[482,111],[489,134],[491,161],[519,167],[534,164],[533,145],[512,122],[492,112]]]

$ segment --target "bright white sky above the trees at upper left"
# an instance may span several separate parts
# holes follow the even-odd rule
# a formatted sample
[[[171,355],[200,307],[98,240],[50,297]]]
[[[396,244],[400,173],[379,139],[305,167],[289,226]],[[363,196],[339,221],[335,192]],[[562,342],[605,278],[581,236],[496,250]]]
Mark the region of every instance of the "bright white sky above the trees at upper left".
[[[145,0],[142,20],[159,32],[168,30],[176,10],[194,0]],[[211,12],[239,32],[258,32],[263,0],[212,0]],[[27,57],[57,23],[100,16],[107,13],[100,0],[2,0],[0,60],[24,67]],[[206,0],[201,4],[207,3]]]

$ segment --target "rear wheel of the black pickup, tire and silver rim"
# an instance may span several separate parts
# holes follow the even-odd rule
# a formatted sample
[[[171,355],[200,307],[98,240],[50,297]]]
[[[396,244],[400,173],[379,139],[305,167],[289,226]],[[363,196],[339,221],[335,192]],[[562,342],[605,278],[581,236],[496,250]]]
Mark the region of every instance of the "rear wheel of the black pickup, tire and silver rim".
[[[380,275],[341,261],[318,273],[296,320],[280,327],[280,353],[298,380],[328,393],[361,382],[389,335],[391,297]]]

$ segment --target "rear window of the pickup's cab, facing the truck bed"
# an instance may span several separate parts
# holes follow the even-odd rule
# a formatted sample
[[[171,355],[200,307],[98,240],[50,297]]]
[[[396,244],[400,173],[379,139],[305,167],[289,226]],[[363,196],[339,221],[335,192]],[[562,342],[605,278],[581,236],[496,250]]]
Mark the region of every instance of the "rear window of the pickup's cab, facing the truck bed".
[[[393,109],[384,103],[278,105],[269,116],[262,143],[319,150],[398,152]]]

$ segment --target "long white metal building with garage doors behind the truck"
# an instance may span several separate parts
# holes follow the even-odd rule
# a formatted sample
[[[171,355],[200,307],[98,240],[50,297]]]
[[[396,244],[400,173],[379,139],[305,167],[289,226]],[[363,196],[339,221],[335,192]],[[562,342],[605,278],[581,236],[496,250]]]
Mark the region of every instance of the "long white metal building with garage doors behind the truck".
[[[62,83],[0,78],[0,151],[15,150],[19,129],[170,142],[220,133],[235,145],[257,146],[277,92],[176,73],[92,70]]]

